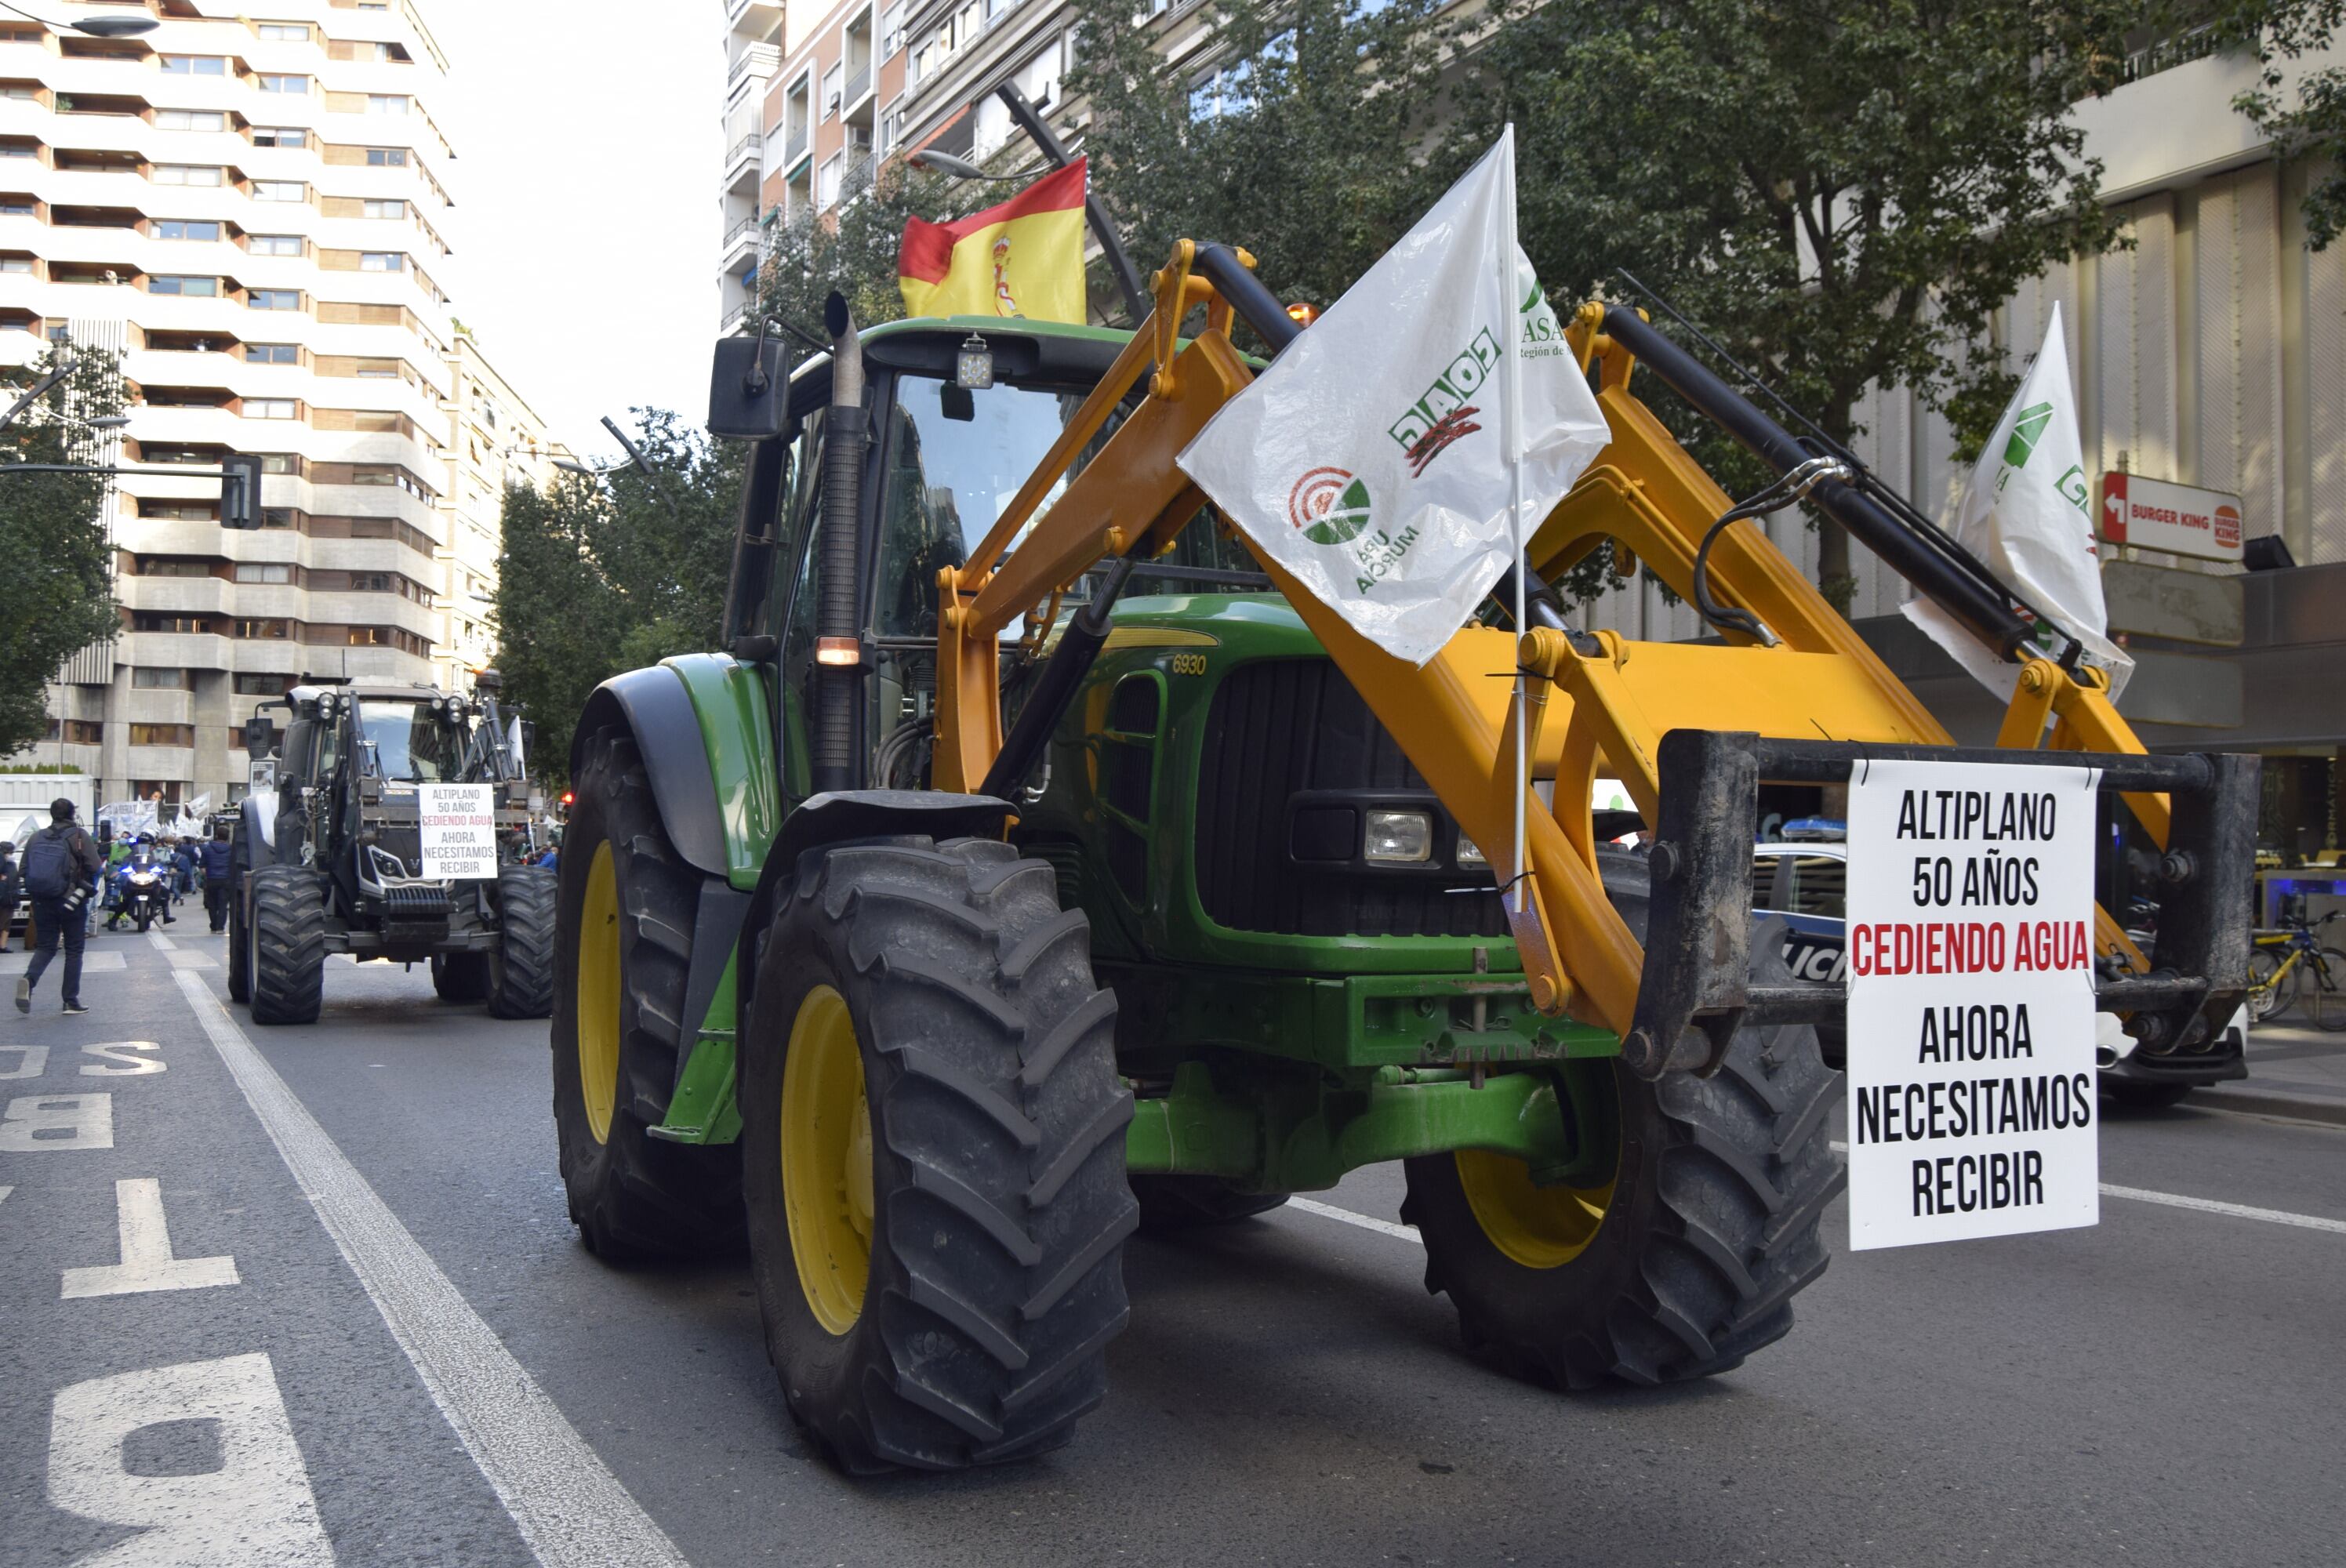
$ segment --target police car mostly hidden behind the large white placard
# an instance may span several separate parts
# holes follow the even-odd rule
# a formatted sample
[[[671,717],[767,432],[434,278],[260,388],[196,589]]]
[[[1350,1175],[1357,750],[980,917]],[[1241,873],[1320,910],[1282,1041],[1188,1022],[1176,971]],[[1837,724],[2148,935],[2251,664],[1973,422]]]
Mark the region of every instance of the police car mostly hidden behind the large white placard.
[[[1792,969],[1792,979],[1842,984],[1849,979],[1844,941],[1849,824],[1835,817],[1795,817],[1778,831],[1781,843],[1752,845],[1752,913],[1776,915],[1790,927],[1783,962]],[[2142,939],[2149,941],[2147,934]],[[2137,1059],[2135,1038],[2116,1014],[2093,1014],[2093,1028],[2102,1094],[2121,1106],[2172,1106],[2203,1084],[2247,1077],[2245,1007],[2210,1049],[2175,1056]],[[1816,1042],[1823,1047],[1825,1066],[1839,1068],[1846,1061],[1849,1038],[1839,1026],[1818,1028]]]

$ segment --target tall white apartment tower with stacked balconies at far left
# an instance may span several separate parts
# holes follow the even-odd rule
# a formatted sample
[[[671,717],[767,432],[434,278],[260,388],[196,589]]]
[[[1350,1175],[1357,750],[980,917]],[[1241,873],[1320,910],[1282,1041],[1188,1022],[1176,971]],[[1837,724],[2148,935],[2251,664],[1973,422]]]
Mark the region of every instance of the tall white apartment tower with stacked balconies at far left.
[[[225,803],[258,702],[303,678],[448,678],[483,653],[469,594],[495,535],[460,488],[465,390],[526,404],[439,284],[448,63],[411,0],[73,14],[157,26],[0,16],[0,359],[61,333],[120,347],[120,458],[260,453],[265,528],[223,530],[216,479],[122,477],[122,634],[68,664],[33,761],[106,798]],[[544,446],[535,418],[528,439]]]

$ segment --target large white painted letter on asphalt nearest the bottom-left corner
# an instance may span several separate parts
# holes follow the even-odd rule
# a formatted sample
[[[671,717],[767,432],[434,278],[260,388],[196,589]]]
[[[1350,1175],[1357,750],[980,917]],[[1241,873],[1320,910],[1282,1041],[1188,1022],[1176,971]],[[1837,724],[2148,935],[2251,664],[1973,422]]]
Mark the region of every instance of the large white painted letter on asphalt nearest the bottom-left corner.
[[[138,1476],[124,1439],[160,1422],[211,1422],[218,1467]],[[56,1392],[49,1502],[143,1533],[84,1568],[331,1568],[293,1420],[265,1354],[91,1378]]]

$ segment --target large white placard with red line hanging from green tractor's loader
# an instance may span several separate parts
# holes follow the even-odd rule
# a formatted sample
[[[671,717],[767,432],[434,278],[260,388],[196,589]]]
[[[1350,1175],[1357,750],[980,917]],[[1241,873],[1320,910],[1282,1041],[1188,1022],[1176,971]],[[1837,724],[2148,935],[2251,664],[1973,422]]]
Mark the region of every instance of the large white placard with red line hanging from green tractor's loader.
[[[2090,768],[1849,779],[1849,1244],[2100,1221]]]

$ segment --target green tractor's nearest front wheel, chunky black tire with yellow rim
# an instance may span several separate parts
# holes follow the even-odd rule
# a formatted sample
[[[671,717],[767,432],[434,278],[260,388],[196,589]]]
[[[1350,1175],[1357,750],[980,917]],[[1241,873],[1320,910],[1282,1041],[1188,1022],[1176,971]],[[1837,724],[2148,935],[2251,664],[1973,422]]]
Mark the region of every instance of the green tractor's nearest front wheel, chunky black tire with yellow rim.
[[[741,1035],[741,1195],[767,1354],[840,1467],[1028,1458],[1105,1397],[1138,1218],[1114,1012],[1011,845],[800,861]]]

